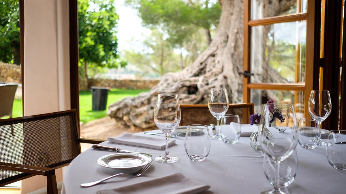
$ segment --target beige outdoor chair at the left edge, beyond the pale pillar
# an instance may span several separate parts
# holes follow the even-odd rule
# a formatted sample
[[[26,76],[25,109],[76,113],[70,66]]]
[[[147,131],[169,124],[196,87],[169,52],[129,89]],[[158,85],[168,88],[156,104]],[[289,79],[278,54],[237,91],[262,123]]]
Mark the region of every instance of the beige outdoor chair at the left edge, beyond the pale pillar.
[[[0,84],[0,119],[4,116],[12,118],[13,100],[18,84]],[[14,136],[13,126],[11,126],[11,135]]]

